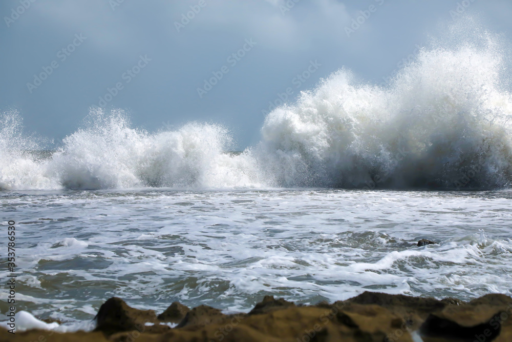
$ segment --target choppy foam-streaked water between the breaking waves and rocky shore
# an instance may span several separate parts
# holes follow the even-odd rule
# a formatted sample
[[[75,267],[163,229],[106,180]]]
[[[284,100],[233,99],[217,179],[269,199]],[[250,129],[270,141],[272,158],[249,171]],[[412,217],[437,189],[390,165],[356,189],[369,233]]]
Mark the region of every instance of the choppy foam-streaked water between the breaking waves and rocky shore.
[[[247,311],[267,294],[512,292],[507,190],[0,194],[2,222],[16,221],[18,310],[40,318],[91,319],[111,296]]]

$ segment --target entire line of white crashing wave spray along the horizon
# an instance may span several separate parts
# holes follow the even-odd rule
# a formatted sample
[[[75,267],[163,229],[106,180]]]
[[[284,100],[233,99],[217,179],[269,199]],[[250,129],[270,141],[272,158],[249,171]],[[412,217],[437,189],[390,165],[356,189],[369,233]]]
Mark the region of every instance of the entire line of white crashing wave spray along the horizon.
[[[262,139],[226,153],[225,127],[149,133],[92,110],[44,160],[15,111],[2,113],[0,189],[493,189],[512,184],[510,60],[470,19],[432,39],[384,86],[343,68],[272,111]],[[468,33],[470,32],[470,33]]]

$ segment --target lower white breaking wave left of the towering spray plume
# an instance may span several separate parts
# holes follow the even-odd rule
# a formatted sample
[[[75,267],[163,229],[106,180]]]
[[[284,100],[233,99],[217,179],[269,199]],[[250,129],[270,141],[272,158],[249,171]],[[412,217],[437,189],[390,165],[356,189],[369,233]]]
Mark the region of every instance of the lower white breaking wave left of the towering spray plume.
[[[0,141],[19,132],[19,114],[9,112]],[[13,129],[13,127],[15,127]],[[19,135],[17,140],[23,140]],[[122,110],[92,110],[86,128],[63,139],[49,158],[34,160],[26,145],[2,149],[0,188],[108,189],[137,187],[253,187],[254,165],[246,153],[226,154],[231,138],[218,125],[189,123],[173,132],[150,134],[130,127]],[[33,149],[33,148],[32,148]],[[30,176],[28,176],[30,175]]]

